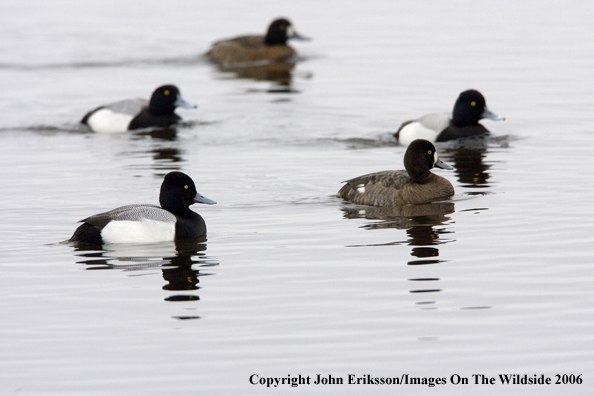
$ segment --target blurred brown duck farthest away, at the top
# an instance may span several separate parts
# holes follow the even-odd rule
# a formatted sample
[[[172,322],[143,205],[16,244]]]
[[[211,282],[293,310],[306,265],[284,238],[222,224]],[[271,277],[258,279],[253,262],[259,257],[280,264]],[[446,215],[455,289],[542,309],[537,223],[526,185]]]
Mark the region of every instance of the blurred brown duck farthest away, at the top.
[[[213,61],[221,65],[234,65],[258,61],[277,62],[296,54],[287,45],[287,40],[309,40],[299,35],[291,22],[279,18],[270,24],[266,35],[247,35],[220,40],[206,53]]]

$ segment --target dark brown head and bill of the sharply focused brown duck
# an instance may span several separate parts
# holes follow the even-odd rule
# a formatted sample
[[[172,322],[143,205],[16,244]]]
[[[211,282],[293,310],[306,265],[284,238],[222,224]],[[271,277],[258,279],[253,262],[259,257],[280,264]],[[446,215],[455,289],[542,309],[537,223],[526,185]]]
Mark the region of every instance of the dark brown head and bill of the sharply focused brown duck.
[[[419,184],[427,182],[434,167],[452,169],[437,157],[433,143],[425,139],[413,140],[404,154],[404,168],[411,180]]]

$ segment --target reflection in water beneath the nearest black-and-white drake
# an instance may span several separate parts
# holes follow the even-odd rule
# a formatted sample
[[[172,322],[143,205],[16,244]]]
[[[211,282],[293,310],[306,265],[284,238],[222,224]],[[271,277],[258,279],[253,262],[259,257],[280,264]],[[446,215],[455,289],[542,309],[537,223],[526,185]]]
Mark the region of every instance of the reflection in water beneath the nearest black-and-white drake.
[[[147,245],[110,244],[78,245],[77,257],[83,260],[87,270],[116,269],[126,272],[134,271],[149,274],[158,269],[167,282],[162,289],[167,291],[195,291],[200,289],[200,278],[212,273],[205,273],[208,268],[218,266],[215,258],[207,256],[206,238],[176,243],[159,243]],[[107,247],[107,248],[106,248]],[[198,301],[200,297],[192,293],[176,293],[169,295],[165,301]],[[176,319],[197,319],[198,317],[180,316]]]

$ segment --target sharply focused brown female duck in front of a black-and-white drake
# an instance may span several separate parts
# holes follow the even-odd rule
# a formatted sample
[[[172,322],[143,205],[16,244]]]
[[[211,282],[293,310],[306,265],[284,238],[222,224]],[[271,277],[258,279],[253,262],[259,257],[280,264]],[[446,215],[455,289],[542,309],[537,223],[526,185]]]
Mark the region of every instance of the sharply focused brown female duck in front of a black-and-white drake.
[[[417,139],[404,154],[406,170],[370,173],[346,181],[337,196],[360,205],[419,204],[454,195],[452,184],[430,172],[433,167],[453,169],[437,158],[433,143]]]

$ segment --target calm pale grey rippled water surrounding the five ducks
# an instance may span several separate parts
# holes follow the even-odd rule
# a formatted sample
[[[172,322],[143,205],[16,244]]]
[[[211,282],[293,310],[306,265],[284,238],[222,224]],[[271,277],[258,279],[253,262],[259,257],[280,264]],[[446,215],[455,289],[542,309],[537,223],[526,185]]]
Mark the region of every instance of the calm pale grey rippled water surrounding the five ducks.
[[[594,3],[5,0],[0,394],[594,391]],[[277,16],[313,38],[281,80],[220,71],[219,38]],[[94,134],[90,109],[177,84],[175,130]],[[437,146],[453,200],[350,205],[401,169],[391,134],[480,90],[505,122]],[[188,173],[205,244],[60,244]],[[343,385],[252,379],[344,378]],[[348,376],[445,385],[348,385]],[[495,377],[474,385],[473,374]],[[502,385],[500,374],[550,377]],[[555,385],[557,375],[581,384]],[[456,376],[468,385],[454,385]],[[565,378],[565,382],[575,377]],[[573,381],[575,382],[575,381]]]

